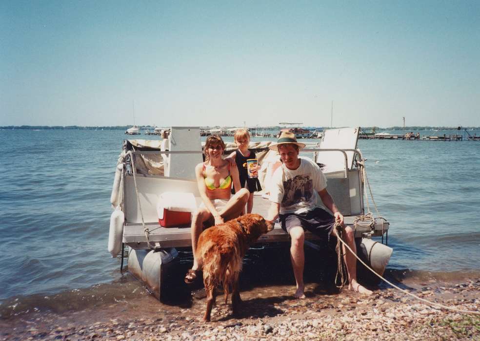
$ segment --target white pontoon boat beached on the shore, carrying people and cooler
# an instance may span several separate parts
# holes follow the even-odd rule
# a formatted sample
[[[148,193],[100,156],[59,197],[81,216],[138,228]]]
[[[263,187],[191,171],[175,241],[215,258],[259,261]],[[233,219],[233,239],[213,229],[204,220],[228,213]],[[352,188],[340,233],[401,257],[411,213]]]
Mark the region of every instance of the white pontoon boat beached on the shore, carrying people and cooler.
[[[328,190],[345,224],[355,231],[359,255],[380,275],[388,263],[391,248],[371,242],[373,236],[388,235],[389,223],[381,217],[360,221],[368,212],[364,159],[357,148],[360,129],[325,130],[317,143],[307,143],[301,157],[312,158],[328,179]],[[268,189],[279,156],[268,149],[272,141],[251,142],[257,153],[259,180],[263,191],[254,196],[254,213],[267,215]],[[226,152],[234,143],[227,143]],[[117,164],[111,204],[115,208],[110,221],[108,249],[116,257],[124,246],[128,251],[128,269],[157,297],[177,247],[191,246],[190,213],[201,202],[194,168],[202,159],[200,128],[172,127],[162,141],[125,140]],[[365,201],[366,199],[366,201]],[[365,208],[367,204],[367,209]],[[318,237],[306,232],[305,239]],[[275,228],[260,237],[258,243],[290,243],[289,236],[276,222]],[[375,247],[374,247],[375,246]],[[121,252],[123,257],[124,252]],[[180,279],[182,280],[182,279]]]

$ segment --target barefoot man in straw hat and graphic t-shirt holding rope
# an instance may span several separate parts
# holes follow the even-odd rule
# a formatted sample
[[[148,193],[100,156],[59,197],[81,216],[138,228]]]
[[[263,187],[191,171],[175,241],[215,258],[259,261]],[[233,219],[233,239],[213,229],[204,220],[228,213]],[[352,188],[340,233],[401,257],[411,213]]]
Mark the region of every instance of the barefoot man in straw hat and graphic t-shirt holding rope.
[[[300,158],[300,149],[305,144],[297,142],[294,133],[282,132],[277,143],[269,148],[280,154],[282,161],[272,176],[270,190],[271,206],[267,220],[274,221],[280,216],[280,225],[292,240],[290,256],[297,282],[296,298],[305,298],[303,266],[305,263],[303,242],[304,229],[328,238],[336,222],[343,224],[343,215],[328,193],[327,180],[319,166],[313,161]],[[333,215],[321,208],[318,197]],[[345,228],[345,242],[356,252],[354,233],[351,227]],[[344,249],[344,260],[348,272],[350,290],[370,295],[372,291],[357,282],[357,260],[350,251]]]

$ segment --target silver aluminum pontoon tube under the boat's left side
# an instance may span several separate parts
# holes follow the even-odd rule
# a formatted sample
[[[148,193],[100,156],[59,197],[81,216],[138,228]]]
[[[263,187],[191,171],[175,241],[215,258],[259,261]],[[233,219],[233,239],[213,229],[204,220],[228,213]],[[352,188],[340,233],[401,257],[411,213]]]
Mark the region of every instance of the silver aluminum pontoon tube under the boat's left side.
[[[151,293],[160,300],[164,274],[169,263],[178,256],[177,249],[165,248],[155,250],[130,249],[128,271],[147,285]]]

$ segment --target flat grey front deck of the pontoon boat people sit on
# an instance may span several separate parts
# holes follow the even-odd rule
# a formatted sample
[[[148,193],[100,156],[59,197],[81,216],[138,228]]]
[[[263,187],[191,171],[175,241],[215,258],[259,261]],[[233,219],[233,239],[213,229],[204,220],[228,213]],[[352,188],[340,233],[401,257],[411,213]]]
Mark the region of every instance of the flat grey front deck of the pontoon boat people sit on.
[[[253,213],[259,213],[262,216],[267,215],[270,201],[262,198],[260,195],[254,196]],[[356,237],[362,237],[364,233],[371,232],[372,236],[382,236],[388,230],[389,223],[377,219],[372,230],[371,227],[354,227],[354,219],[356,216],[345,216],[345,224],[351,226],[355,230]],[[150,243],[155,245],[158,243],[160,247],[185,247],[191,246],[190,225],[178,227],[161,227],[158,223],[145,223],[149,229]],[[318,239],[316,235],[308,231],[305,232],[305,239]],[[275,228],[262,235],[257,243],[273,243],[288,242],[289,236],[284,232],[280,224],[277,222]],[[139,223],[126,224],[123,230],[123,243],[135,249],[147,249],[147,242],[143,227]]]

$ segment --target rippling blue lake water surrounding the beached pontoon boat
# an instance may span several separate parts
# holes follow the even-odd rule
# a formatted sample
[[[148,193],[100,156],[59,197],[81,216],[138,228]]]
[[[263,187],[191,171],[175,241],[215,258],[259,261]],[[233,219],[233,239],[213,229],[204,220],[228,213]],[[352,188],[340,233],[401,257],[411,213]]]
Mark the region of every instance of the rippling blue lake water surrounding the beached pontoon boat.
[[[0,131],[0,303],[138,289],[107,252],[124,138],[122,131]],[[359,147],[391,224],[389,267],[480,270],[480,142],[360,140]]]

